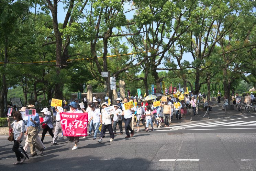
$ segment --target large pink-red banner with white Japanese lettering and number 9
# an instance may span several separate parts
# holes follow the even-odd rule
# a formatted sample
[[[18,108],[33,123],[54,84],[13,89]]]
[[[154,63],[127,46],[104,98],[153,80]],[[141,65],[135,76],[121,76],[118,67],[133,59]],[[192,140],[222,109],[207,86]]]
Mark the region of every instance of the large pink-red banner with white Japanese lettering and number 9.
[[[88,113],[60,113],[64,136],[87,136]]]

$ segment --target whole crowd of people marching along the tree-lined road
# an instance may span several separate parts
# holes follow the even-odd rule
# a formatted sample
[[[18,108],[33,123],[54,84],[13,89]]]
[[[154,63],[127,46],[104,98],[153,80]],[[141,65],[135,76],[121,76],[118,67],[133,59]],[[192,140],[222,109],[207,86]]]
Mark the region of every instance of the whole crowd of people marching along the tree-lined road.
[[[233,97],[233,95],[232,95]],[[239,104],[241,102],[241,97],[238,96],[238,93],[234,96],[235,103]],[[254,97],[249,96],[245,98],[246,103],[248,100],[251,101]],[[219,100],[219,96],[218,96]],[[133,101],[134,106],[126,108],[124,104],[127,102]],[[160,105],[154,106],[154,102],[160,101]],[[180,120],[183,117],[186,117],[186,109],[188,106],[191,106],[193,109],[193,115],[196,115],[196,107],[200,102],[204,102],[203,107],[209,108],[211,110],[209,100],[206,100],[206,96],[203,93],[201,95],[199,93],[198,96],[194,96],[191,92],[185,94],[183,98],[175,98],[174,95],[169,95],[166,98],[166,101],[161,101],[160,97],[155,99],[146,101],[145,98],[140,96],[130,96],[124,97],[124,101],[121,98],[116,99],[116,104],[113,104],[115,108],[115,114],[110,115],[105,110],[105,107],[109,107],[109,97],[104,97],[103,103],[96,96],[93,97],[92,101],[87,102],[87,99],[84,99],[85,108],[81,108],[78,104],[78,100],[74,99],[74,101],[69,104],[64,100],[64,107],[55,106],[53,107],[53,116],[55,122],[53,122],[51,118],[51,111],[48,108],[44,108],[41,113],[43,114],[43,118],[40,119],[38,113],[35,116],[29,116],[27,120],[22,120],[22,114],[20,111],[25,111],[25,109],[35,109],[34,105],[28,105],[27,107],[22,107],[19,111],[13,112],[14,121],[10,123],[10,119],[8,120],[9,128],[13,129],[14,134],[14,145],[13,152],[15,152],[17,162],[13,163],[13,165],[18,165],[24,162],[26,157],[19,151],[19,144],[22,142],[24,133],[27,135],[25,140],[24,151],[27,153],[27,148],[30,147],[31,155],[30,157],[34,157],[37,155],[42,155],[44,152],[44,137],[47,132],[52,136],[53,140],[51,145],[57,145],[58,135],[62,131],[60,113],[88,113],[88,126],[89,126],[89,134],[88,136],[93,136],[93,140],[98,138],[98,143],[103,142],[103,138],[105,137],[105,132],[108,130],[110,134],[110,142],[114,140],[115,135],[117,134],[117,125],[119,126],[119,134],[123,134],[122,123],[124,121],[125,124],[125,138],[130,138],[134,135],[134,131],[154,131],[154,124],[156,127],[169,127],[171,120],[173,119],[173,115],[176,116],[177,120]],[[176,104],[176,105],[175,105]],[[177,105],[178,104],[178,105]],[[87,106],[88,105],[88,106]],[[224,97],[223,109],[227,104],[227,98]],[[143,126],[141,126],[141,124]],[[55,130],[54,129],[55,124]],[[149,129],[149,124],[151,129]],[[137,127],[135,130],[134,127]],[[38,132],[43,129],[42,137],[38,136]],[[101,130],[99,128],[101,127]],[[99,137],[97,135],[99,134]],[[85,138],[85,136],[83,137]],[[59,137],[59,139],[63,139],[63,136]],[[79,136],[67,136],[68,142],[74,142],[74,146],[72,150],[78,149],[79,145]],[[39,151],[37,154],[36,149]]]

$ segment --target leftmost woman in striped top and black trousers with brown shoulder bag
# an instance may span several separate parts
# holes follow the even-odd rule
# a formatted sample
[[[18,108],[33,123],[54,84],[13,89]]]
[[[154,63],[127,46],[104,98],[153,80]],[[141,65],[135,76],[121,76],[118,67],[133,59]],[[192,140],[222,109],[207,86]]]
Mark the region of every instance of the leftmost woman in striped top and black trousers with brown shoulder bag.
[[[13,112],[13,119],[14,121],[11,124],[10,124],[9,118],[7,118],[7,121],[8,121],[9,129],[11,128],[13,129],[14,142],[13,142],[12,151],[15,153],[17,158],[17,162],[13,163],[13,165],[19,165],[19,164],[22,164],[26,159],[26,156],[21,154],[19,150],[19,144],[22,142],[24,137],[23,133],[25,129],[25,124],[22,120],[22,116],[19,111]]]

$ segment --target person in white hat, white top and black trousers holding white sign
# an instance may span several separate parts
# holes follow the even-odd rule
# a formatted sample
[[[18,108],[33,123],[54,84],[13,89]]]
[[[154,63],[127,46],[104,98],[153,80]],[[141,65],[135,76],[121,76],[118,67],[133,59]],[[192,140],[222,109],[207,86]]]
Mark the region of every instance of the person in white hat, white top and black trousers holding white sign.
[[[112,121],[111,121],[111,113],[108,113],[105,110],[105,107],[109,107],[108,103],[102,103],[101,104],[102,110],[101,110],[101,115],[102,115],[102,127],[100,131],[100,139],[98,140],[98,143],[102,143],[102,137],[105,135],[106,130],[108,129],[109,135],[110,135],[110,142],[114,140],[114,132],[112,128]]]

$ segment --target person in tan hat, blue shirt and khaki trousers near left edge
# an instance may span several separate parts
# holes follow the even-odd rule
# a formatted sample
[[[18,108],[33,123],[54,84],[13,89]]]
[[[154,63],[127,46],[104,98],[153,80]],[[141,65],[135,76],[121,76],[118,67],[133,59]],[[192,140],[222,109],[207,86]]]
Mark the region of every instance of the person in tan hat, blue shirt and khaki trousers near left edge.
[[[33,110],[35,109],[34,105],[29,105],[26,109]],[[38,132],[40,129],[40,119],[38,113],[35,113],[35,116],[29,116],[27,120],[27,131],[26,135],[28,136],[28,142],[30,146],[30,157],[37,156],[36,150],[40,151],[39,155],[42,155],[44,152],[44,148],[42,148],[41,144],[36,141],[36,137],[38,136]]]

